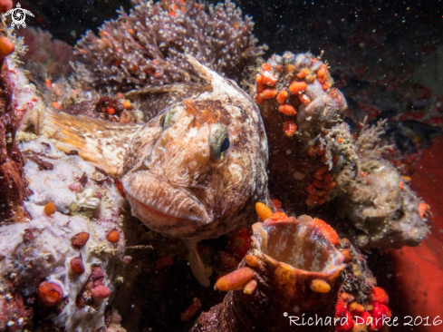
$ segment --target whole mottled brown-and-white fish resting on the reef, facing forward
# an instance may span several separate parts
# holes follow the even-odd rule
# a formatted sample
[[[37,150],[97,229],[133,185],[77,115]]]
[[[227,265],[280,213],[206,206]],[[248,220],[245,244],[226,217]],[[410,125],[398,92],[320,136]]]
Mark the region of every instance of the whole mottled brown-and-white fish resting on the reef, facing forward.
[[[209,286],[197,242],[256,221],[255,202],[268,201],[268,147],[249,95],[191,56],[188,61],[207,88],[144,125],[47,111],[43,132],[60,150],[77,150],[120,177],[132,215],[183,239],[194,275]]]

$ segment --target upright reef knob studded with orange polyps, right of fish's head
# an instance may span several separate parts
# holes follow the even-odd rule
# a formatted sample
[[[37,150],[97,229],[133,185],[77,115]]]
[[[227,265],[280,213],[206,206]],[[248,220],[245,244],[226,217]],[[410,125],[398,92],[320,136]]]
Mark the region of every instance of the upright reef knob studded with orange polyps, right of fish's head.
[[[270,147],[270,190],[297,214],[323,205],[334,189],[336,160],[323,135],[341,122],[347,105],[331,86],[326,65],[313,54],[273,55],[255,77],[252,93]]]

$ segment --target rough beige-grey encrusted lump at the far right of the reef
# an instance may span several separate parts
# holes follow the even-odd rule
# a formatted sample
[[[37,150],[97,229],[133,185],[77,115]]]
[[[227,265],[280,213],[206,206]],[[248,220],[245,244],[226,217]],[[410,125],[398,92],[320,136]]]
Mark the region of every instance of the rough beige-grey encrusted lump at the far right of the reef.
[[[340,171],[336,181],[343,190],[339,214],[358,229],[359,247],[400,249],[417,246],[427,236],[428,225],[419,215],[422,200],[389,161],[359,158]]]

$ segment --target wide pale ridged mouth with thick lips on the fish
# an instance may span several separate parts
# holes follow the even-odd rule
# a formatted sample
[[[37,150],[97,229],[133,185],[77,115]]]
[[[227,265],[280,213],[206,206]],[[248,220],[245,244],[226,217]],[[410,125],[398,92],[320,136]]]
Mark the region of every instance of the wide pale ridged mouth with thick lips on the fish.
[[[159,221],[173,224],[178,220],[202,225],[212,220],[205,206],[192,193],[159,181],[147,171],[126,174],[122,184],[137,217],[147,225]]]

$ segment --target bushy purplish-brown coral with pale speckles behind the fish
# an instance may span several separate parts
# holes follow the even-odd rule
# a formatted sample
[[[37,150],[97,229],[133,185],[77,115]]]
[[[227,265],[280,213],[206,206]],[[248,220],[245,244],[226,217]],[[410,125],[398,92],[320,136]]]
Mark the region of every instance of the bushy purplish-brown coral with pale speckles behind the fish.
[[[200,81],[185,54],[239,81],[265,46],[255,46],[253,23],[230,1],[153,3],[133,0],[130,14],[106,22],[100,36],[89,31],[76,47],[102,90]]]

